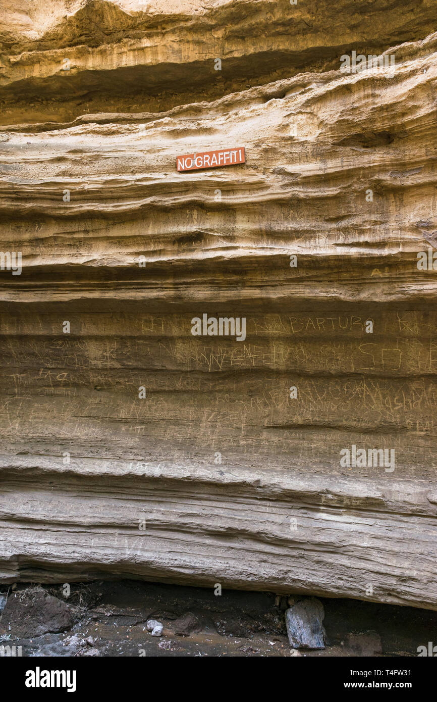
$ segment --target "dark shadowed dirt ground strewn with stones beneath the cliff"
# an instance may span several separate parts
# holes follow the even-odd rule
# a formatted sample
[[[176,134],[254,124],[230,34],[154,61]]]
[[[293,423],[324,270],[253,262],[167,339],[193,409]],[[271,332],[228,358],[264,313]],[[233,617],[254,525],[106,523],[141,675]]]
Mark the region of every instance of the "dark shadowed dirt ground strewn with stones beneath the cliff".
[[[419,645],[436,640],[437,612],[321,598],[327,646],[295,651],[285,630],[285,597],[139,581],[70,588],[68,597],[62,585],[0,588],[0,603],[7,594],[18,604],[11,609],[9,602],[0,614],[0,644],[21,646],[22,656],[417,656]],[[68,623],[65,612],[59,618],[62,609]],[[197,625],[175,633],[187,613]],[[163,624],[161,637],[147,631],[150,618]]]

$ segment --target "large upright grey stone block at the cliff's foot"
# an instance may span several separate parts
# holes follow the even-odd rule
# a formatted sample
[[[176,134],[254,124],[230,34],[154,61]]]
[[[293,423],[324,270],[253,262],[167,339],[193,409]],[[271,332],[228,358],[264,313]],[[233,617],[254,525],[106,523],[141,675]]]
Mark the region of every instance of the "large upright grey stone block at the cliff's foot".
[[[324,649],[323,604],[316,597],[300,600],[285,612],[288,640],[293,649]]]

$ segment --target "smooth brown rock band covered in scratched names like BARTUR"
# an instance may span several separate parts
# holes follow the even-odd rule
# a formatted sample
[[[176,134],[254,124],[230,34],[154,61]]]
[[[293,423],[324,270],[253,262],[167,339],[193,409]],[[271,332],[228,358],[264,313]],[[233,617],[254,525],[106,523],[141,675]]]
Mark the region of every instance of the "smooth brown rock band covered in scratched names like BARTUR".
[[[436,314],[248,315],[238,344],[191,336],[191,317],[81,314],[67,337],[48,314],[6,320],[1,437],[60,454],[78,442],[96,456],[112,442],[145,445],[144,460],[182,463],[210,461],[213,447],[236,465],[311,461],[328,471],[339,447],[363,437],[395,448],[400,470],[431,450]]]

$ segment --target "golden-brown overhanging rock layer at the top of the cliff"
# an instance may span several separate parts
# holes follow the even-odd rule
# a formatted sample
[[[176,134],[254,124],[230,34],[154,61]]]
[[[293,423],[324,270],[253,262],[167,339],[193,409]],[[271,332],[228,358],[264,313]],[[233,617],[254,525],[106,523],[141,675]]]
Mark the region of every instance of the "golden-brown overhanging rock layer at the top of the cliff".
[[[22,4],[23,5],[23,4]],[[436,30],[433,0],[41,0],[0,9],[1,124],[168,110]],[[222,60],[221,70],[216,59]]]

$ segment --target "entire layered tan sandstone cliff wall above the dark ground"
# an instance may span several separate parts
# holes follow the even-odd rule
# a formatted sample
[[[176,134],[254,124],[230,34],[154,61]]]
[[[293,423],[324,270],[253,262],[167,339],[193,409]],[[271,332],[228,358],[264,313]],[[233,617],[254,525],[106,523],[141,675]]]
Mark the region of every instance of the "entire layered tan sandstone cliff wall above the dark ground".
[[[0,581],[437,609],[436,4],[0,12]]]

